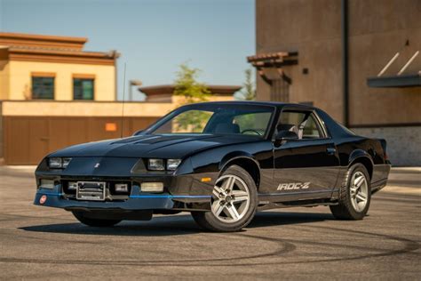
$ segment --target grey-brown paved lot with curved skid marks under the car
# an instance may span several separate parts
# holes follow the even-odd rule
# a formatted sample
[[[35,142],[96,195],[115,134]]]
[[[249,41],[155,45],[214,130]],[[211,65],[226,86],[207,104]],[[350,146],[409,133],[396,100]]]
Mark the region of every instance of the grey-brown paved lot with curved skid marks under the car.
[[[32,205],[31,167],[0,167],[0,278],[421,279],[421,170],[399,169],[363,221],[327,207],[259,213],[232,234],[188,213],[88,228]]]

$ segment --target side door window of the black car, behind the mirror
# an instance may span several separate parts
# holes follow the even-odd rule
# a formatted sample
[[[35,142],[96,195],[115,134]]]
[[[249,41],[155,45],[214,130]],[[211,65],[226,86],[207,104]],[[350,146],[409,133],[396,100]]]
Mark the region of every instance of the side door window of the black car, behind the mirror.
[[[321,128],[310,112],[283,111],[276,127],[277,131],[291,131],[298,139],[319,139],[323,137]]]

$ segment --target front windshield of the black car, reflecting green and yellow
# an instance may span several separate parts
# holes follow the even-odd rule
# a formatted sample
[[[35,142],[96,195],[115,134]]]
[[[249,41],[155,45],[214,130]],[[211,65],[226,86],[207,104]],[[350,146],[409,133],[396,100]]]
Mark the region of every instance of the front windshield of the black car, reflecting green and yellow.
[[[237,134],[263,137],[274,107],[250,104],[196,104],[164,116],[146,130],[151,134]]]

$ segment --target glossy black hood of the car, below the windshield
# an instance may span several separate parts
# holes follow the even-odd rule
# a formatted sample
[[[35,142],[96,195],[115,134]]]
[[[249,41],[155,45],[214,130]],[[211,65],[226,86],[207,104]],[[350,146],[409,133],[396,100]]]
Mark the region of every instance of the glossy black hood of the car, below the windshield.
[[[203,149],[261,141],[248,135],[139,135],[88,142],[61,149],[50,157],[184,158]]]

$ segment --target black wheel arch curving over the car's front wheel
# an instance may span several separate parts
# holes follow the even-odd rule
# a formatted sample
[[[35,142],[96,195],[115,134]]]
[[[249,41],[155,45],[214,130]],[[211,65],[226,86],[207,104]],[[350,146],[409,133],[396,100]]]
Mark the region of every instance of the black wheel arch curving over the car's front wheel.
[[[250,173],[251,178],[258,188],[260,184],[260,166],[256,159],[250,154],[242,151],[227,154],[219,163],[219,176],[231,165],[238,165],[247,171],[247,173]]]

